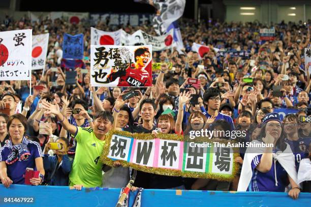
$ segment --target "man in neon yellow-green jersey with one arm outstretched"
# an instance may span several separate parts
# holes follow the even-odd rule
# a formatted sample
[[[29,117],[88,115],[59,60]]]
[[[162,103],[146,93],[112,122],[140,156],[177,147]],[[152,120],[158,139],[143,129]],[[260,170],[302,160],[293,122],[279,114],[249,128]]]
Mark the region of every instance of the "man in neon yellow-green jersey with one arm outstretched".
[[[76,156],[69,175],[69,185],[76,189],[102,185],[100,156],[105,144],[106,133],[111,129],[113,117],[110,112],[102,111],[95,115],[94,128],[71,125],[60,113],[59,106],[44,101],[44,109],[55,114],[58,121],[77,141]]]

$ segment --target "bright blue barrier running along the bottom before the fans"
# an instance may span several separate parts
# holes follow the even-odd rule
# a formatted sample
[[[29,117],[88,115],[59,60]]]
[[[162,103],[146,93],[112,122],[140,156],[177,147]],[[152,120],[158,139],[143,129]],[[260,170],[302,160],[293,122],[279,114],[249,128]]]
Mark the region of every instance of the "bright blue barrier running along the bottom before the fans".
[[[120,189],[82,188],[81,191],[58,186],[11,185],[6,189],[0,184],[0,206],[115,206]],[[5,198],[29,198],[33,202],[5,202]],[[13,199],[11,199],[13,198]],[[134,194],[131,192],[130,202]],[[24,199],[26,200],[26,199]],[[23,201],[24,201],[23,200]],[[26,200],[27,201],[27,200]],[[287,193],[277,192],[223,192],[188,190],[144,190],[143,207],[170,206],[310,206],[311,193],[301,193],[293,200]],[[129,205],[129,206],[132,206]]]

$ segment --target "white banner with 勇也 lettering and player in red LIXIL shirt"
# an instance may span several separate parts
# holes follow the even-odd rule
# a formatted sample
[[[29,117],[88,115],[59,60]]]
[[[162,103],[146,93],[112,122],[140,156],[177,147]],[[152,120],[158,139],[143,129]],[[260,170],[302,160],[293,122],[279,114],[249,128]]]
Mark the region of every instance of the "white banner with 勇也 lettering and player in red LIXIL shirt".
[[[152,86],[151,45],[91,45],[90,58],[92,86]]]

